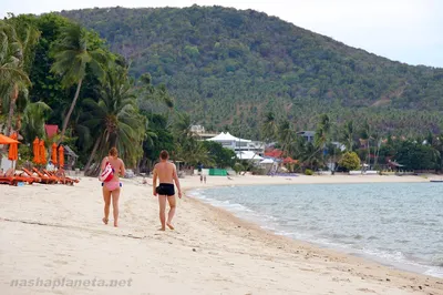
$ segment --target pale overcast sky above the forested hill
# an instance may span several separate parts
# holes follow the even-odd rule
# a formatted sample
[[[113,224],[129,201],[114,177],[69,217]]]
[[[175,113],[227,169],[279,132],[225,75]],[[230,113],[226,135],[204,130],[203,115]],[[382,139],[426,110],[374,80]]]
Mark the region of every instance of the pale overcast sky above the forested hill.
[[[7,12],[193,4],[254,9],[391,60],[443,68],[443,0],[0,0],[0,18]]]

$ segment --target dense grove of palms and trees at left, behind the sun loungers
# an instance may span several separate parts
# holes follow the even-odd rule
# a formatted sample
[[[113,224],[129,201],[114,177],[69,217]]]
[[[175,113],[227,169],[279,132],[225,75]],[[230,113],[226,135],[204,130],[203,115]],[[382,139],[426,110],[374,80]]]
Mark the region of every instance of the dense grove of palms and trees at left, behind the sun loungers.
[[[153,85],[150,73],[131,77],[131,61],[94,31],[53,13],[10,16],[0,38],[0,129],[19,132],[22,157],[39,136],[70,145],[91,175],[112,146],[136,170],[148,170],[164,149],[187,165],[233,164],[231,151],[194,136],[165,85]],[[45,124],[61,132],[49,139]]]

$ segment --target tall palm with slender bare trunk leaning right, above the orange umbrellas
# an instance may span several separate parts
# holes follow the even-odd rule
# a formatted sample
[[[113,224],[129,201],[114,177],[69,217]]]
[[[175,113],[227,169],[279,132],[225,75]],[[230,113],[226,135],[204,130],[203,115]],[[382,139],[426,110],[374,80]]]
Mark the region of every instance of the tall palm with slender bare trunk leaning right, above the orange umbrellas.
[[[76,84],[74,99],[63,120],[60,142],[63,141],[71,114],[79,99],[80,90],[86,75],[86,67],[99,78],[103,78],[103,67],[110,59],[101,48],[91,49],[89,40],[90,34],[86,30],[79,24],[70,24],[62,29],[61,40],[53,50],[55,61],[51,67],[51,71],[62,75],[63,87],[70,88]]]

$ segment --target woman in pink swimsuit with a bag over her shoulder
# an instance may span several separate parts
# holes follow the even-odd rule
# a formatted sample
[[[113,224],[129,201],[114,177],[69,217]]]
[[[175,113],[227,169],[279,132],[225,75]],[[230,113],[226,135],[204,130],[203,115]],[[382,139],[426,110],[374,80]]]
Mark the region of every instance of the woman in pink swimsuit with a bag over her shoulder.
[[[114,169],[114,176],[111,181],[104,182],[103,186],[103,200],[104,200],[104,217],[103,223],[107,224],[110,217],[110,206],[111,206],[111,197],[112,197],[112,207],[114,214],[114,226],[119,226],[119,197],[121,191],[121,182],[119,175],[125,174],[125,167],[122,159],[117,156],[117,149],[112,148],[110,150],[110,155],[105,156],[102,161],[101,171],[103,172],[106,163],[110,163]]]

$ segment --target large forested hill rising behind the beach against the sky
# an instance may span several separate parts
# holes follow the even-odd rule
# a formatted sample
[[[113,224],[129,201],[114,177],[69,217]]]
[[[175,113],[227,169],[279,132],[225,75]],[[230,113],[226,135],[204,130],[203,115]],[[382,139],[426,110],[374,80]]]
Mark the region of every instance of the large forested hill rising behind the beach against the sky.
[[[258,138],[264,113],[275,111],[298,130],[313,129],[320,113],[382,134],[443,130],[443,69],[390,61],[265,13],[194,6],[62,14],[96,30],[134,77],[150,72],[206,128]]]

